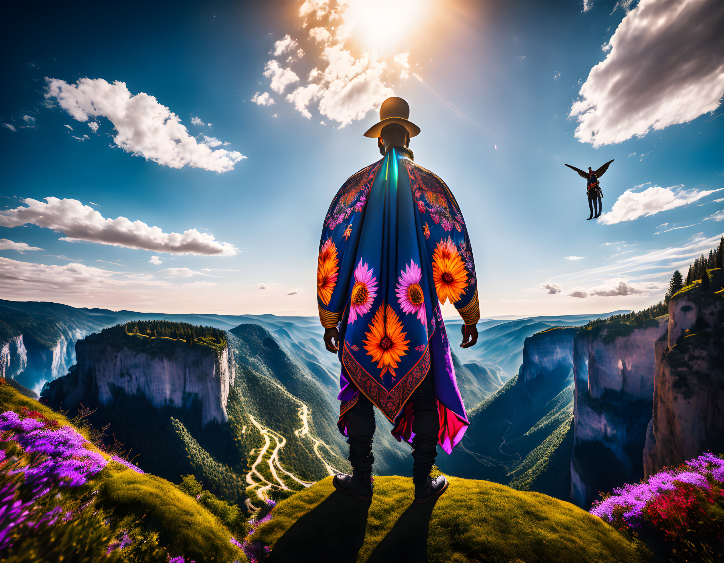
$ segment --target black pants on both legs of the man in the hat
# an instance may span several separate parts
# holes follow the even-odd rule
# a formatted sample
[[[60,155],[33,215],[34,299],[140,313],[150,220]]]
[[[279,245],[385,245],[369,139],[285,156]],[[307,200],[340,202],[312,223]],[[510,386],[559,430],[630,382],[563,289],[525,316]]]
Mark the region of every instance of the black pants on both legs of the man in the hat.
[[[435,397],[432,373],[428,373],[418,388],[413,391],[408,399],[408,402],[410,401],[415,415],[412,423],[412,431],[415,433],[412,441],[412,457],[415,459],[416,466],[426,467],[435,462],[439,430],[437,397]],[[345,419],[349,435],[347,443],[350,444],[350,464],[358,472],[369,472],[374,463],[372,436],[375,429],[371,401],[360,393],[355,406],[345,413]],[[427,470],[429,471],[429,468]]]

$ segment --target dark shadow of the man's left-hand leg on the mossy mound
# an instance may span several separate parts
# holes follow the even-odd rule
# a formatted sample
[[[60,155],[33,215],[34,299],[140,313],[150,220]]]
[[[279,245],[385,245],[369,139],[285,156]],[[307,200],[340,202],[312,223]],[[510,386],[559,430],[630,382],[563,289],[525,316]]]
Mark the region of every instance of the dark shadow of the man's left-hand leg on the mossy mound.
[[[364,541],[369,503],[334,491],[297,520],[265,562],[354,563]],[[323,538],[319,541],[316,538]]]

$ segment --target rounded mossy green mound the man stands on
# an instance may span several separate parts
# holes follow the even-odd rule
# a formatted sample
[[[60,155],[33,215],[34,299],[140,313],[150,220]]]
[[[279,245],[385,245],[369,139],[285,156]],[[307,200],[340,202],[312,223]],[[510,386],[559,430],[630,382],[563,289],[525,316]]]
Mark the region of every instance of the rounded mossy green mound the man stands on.
[[[568,502],[489,481],[449,478],[437,502],[413,503],[410,478],[375,478],[370,505],[334,491],[332,478],[280,502],[251,541],[289,556],[430,563],[638,562],[613,528]]]

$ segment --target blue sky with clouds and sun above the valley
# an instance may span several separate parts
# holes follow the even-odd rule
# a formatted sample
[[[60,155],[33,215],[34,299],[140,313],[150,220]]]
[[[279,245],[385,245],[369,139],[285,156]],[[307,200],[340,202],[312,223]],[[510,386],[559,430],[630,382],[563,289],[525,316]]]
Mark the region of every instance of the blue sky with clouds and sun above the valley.
[[[724,232],[720,0],[1,10],[4,299],[315,315],[388,96],[460,204],[483,317],[645,308]],[[586,221],[563,164],[612,158]]]

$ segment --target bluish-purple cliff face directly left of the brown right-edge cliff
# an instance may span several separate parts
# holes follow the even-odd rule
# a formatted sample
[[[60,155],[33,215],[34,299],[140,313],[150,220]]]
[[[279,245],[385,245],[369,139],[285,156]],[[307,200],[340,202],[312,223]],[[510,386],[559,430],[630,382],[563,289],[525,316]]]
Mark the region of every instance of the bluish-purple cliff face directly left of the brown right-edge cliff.
[[[589,507],[598,491],[644,476],[654,343],[667,329],[664,316],[638,328],[612,323],[576,335],[571,501],[580,507]]]

